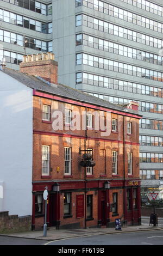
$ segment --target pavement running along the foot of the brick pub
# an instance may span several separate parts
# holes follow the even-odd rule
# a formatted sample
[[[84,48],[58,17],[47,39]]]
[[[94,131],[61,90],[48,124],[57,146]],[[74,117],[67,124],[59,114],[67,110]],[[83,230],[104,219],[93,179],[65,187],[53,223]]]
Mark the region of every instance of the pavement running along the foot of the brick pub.
[[[2,236],[10,237],[22,237],[26,239],[39,239],[39,240],[62,240],[73,237],[83,237],[91,235],[105,235],[105,234],[117,234],[124,232],[136,232],[136,231],[147,231],[147,230],[163,230],[163,218],[158,218],[158,226],[153,227],[149,225],[149,217],[142,216],[142,224],[134,226],[122,227],[122,230],[115,230],[115,228],[81,228],[81,229],[59,229],[55,227],[50,227],[47,229],[47,236],[43,236],[43,230],[39,231],[27,231],[21,233],[10,233],[10,234],[0,234]],[[159,224],[160,223],[162,224]]]

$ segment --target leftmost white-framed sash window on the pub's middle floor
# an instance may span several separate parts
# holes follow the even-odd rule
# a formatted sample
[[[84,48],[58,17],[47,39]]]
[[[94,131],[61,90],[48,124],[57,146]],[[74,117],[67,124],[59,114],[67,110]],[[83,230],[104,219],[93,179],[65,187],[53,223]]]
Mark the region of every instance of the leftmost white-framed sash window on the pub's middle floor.
[[[42,175],[49,175],[50,166],[50,147],[42,146]]]

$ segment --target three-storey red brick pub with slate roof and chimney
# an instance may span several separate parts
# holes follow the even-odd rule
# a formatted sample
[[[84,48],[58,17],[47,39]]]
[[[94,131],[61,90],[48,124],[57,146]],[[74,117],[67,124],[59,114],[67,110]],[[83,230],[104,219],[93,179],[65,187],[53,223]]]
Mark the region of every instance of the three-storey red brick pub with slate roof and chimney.
[[[53,54],[24,56],[20,71],[29,75],[3,72],[33,90],[33,229],[43,227],[45,187],[49,226],[141,224],[137,103],[116,106],[57,83]],[[60,113],[64,126],[56,129]],[[72,129],[74,113],[86,129]],[[81,166],[84,153],[95,166]]]

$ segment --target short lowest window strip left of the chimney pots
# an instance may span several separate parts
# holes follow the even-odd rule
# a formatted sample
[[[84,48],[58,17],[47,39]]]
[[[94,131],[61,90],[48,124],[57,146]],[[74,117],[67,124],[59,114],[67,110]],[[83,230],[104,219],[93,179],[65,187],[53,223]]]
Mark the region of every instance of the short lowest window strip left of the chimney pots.
[[[22,62],[23,55],[15,52],[0,50],[0,60],[2,60],[2,58],[5,58],[6,62],[18,65]]]

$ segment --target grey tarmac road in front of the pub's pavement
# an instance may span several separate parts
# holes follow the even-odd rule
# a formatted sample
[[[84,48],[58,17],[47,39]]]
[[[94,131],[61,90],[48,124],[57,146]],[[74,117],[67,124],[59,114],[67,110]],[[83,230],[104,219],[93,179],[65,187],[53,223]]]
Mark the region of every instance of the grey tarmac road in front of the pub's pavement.
[[[163,245],[163,230],[135,231],[109,235],[93,235],[73,239],[45,241],[0,236],[0,245]]]

